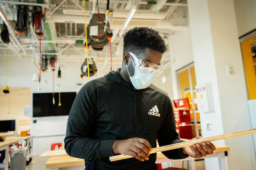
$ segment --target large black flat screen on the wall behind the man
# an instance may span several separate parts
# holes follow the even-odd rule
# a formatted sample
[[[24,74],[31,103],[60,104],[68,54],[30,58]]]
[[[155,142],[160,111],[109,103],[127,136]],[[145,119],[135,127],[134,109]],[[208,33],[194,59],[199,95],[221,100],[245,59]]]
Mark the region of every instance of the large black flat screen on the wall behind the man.
[[[76,92],[54,94],[55,104],[52,102],[52,93],[33,93],[33,117],[68,115],[76,98]]]

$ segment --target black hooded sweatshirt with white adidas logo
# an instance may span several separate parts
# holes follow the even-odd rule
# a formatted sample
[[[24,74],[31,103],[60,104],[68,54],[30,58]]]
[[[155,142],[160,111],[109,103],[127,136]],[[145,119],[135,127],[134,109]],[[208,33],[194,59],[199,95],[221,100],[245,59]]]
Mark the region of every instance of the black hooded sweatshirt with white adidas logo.
[[[149,160],[128,158],[110,162],[114,140],[146,139],[152,148],[180,143],[171,101],[153,84],[136,90],[122,79],[120,68],[86,83],[68,116],[65,150],[85,160],[85,170],[156,170],[156,154]],[[188,157],[181,149],[163,152],[170,159]]]

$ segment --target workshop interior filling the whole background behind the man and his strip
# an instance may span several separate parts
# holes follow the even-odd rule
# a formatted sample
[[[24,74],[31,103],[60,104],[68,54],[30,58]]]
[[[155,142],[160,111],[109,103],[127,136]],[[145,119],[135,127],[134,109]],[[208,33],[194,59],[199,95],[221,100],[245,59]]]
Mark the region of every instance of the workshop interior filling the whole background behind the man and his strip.
[[[152,84],[168,93],[181,139],[256,128],[255,9],[255,0],[0,0],[0,170],[84,169],[64,149],[70,109],[86,83],[122,67],[135,27],[164,40]],[[199,159],[158,152],[157,168],[256,170],[256,134],[213,143]]]

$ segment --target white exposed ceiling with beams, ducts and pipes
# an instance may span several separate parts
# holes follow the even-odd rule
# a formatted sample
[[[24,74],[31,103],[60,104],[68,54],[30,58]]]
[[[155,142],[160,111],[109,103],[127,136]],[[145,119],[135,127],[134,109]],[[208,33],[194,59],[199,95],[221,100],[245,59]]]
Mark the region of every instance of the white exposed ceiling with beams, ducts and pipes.
[[[86,1],[86,23],[92,16],[93,4],[96,0]],[[99,0],[99,11],[105,13],[107,0]],[[132,0],[110,0],[110,29],[112,29],[112,51],[113,61],[122,61],[120,57],[120,45],[123,37],[118,36],[126,20]],[[138,0],[137,10],[127,25],[125,31],[135,26],[148,26],[160,32],[168,45],[168,36],[177,30],[187,26],[187,2],[186,0]],[[10,30],[9,55],[17,57],[31,56],[34,64],[38,64],[39,39],[34,28],[30,26],[27,36],[24,34],[18,37],[15,31],[17,20],[17,5],[42,6],[45,9],[45,20],[43,22],[44,35],[42,38],[42,53],[58,55],[58,60],[83,61],[85,58],[84,44],[76,43],[76,40],[85,40],[84,37],[84,1],[83,0],[0,0],[0,23],[3,18],[8,23]],[[97,11],[95,11],[97,12]],[[124,31],[124,32],[125,32]],[[119,47],[118,47],[119,46]],[[109,46],[105,46],[104,53],[109,52]],[[6,44],[0,42],[0,56],[6,53]],[[102,60],[105,56],[102,51],[90,49],[89,56],[94,60]],[[108,55],[109,56],[109,55]],[[96,59],[95,59],[96,58]],[[170,62],[170,55],[167,51],[163,61]]]

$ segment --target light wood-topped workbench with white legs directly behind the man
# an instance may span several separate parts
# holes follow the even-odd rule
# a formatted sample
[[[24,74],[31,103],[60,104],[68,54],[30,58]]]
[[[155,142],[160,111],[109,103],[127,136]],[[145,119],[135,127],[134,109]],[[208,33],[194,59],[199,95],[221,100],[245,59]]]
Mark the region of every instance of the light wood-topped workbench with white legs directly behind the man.
[[[225,156],[227,156],[228,151],[230,148],[228,146],[223,145],[215,145],[216,150],[214,150],[214,153],[211,155],[207,155],[204,158],[212,158],[217,157],[219,160],[219,167],[220,170],[226,170],[226,161]],[[46,162],[46,168],[50,168],[52,170],[84,170],[84,160],[80,158],[74,158],[71,156],[68,156],[68,154],[65,152],[64,147],[60,147],[59,150],[50,150],[46,151],[40,157],[42,156],[50,156],[48,161]],[[202,158],[200,158],[202,159]],[[195,166],[195,160],[196,158],[188,157],[185,159],[179,159],[179,160],[172,160],[166,158],[162,152],[158,152],[156,154],[156,163],[164,163],[164,162],[178,162],[178,161],[187,161],[189,162],[188,166],[190,170],[196,170]]]

